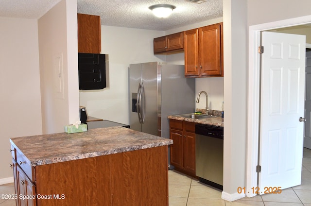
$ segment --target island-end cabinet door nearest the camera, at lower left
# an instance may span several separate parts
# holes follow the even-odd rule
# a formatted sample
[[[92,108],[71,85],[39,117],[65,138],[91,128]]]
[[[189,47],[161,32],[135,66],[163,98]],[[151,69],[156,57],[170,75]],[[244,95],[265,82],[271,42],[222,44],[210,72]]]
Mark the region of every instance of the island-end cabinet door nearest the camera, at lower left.
[[[25,195],[25,196],[33,196],[35,195],[35,186],[33,183],[28,179],[26,174],[22,171],[22,169],[17,166],[16,167],[16,181],[17,181],[17,195]],[[18,205],[19,206],[35,206],[36,199],[26,198],[20,199],[18,198]]]

